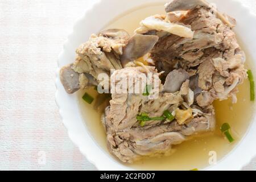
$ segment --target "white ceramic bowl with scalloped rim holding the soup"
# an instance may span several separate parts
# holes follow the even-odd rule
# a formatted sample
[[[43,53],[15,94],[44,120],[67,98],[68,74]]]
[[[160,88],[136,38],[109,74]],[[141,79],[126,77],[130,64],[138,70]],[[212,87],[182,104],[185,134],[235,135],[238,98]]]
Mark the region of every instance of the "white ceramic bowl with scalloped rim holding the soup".
[[[73,32],[68,36],[63,51],[59,55],[58,67],[72,63],[75,60],[76,48],[86,40],[90,34],[100,31],[111,20],[136,7],[142,7],[149,3],[162,3],[162,0],[104,0],[98,1],[93,7],[86,11],[85,15],[76,22]],[[212,0],[216,3],[221,12],[225,12],[237,20],[235,31],[242,38],[242,44],[246,45],[246,51],[250,53],[253,60],[256,60],[256,18],[249,10],[234,0]],[[71,140],[79,147],[82,154],[100,170],[129,170],[126,166],[110,157],[106,151],[94,141],[90,131],[86,129],[84,120],[81,117],[79,104],[75,94],[67,94],[61,85],[59,78],[59,68],[56,78],[56,102],[59,105],[60,115],[63,123],[67,127]],[[247,134],[241,142],[224,159],[216,165],[210,166],[208,170],[239,170],[256,154],[256,121],[251,123]]]

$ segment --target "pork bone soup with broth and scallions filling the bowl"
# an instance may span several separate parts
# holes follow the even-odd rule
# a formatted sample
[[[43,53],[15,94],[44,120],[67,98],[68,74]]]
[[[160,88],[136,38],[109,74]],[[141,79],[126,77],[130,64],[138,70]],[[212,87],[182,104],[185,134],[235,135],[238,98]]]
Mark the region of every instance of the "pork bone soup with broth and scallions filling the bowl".
[[[233,150],[253,118],[247,70],[254,65],[237,42],[234,19],[191,3],[172,1],[166,11],[148,5],[115,18],[61,71],[95,142],[128,167],[203,169]],[[113,68],[119,77],[155,73],[159,97],[150,100],[147,84],[141,94],[99,94],[97,75]]]

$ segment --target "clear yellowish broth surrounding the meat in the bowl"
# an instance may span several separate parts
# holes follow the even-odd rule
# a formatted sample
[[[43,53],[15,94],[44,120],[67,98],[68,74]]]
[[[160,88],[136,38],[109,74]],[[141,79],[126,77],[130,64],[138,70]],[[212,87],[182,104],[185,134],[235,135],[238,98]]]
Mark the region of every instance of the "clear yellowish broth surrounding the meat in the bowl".
[[[155,6],[143,7],[115,18],[104,29],[123,28],[132,35],[142,19],[150,15],[163,13],[162,3]],[[143,62],[142,59],[140,61]],[[253,69],[250,59],[247,59],[245,67]],[[216,130],[214,132],[200,134],[191,140],[173,146],[173,153],[170,156],[143,158],[134,164],[125,165],[142,170],[190,170],[193,168],[203,169],[208,167],[210,151],[216,152],[217,160],[222,159],[240,142],[253,118],[255,104],[250,101],[249,81],[245,80],[239,86],[239,90],[237,104],[232,104],[230,99],[214,101],[213,105],[216,112]],[[101,114],[94,110],[92,105],[85,103],[81,99],[84,92],[85,90],[80,90],[77,94],[82,117],[86,118],[84,119],[86,121],[85,124],[95,142],[108,152],[105,131],[100,122]],[[97,96],[97,92],[93,88],[86,90],[86,92],[92,94],[94,97]],[[233,143],[229,143],[224,135],[221,134],[220,126],[225,122],[228,122],[232,127],[232,133],[236,138]]]

